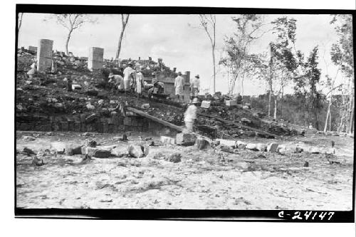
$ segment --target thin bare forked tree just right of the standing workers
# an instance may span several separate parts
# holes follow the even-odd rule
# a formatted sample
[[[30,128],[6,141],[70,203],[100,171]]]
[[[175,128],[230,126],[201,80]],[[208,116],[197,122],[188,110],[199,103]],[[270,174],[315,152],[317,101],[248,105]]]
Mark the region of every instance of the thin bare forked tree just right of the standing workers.
[[[216,80],[216,63],[215,63],[215,46],[216,46],[216,15],[199,14],[201,27],[204,28],[206,35],[211,43],[211,54],[213,57],[213,93],[215,93]]]

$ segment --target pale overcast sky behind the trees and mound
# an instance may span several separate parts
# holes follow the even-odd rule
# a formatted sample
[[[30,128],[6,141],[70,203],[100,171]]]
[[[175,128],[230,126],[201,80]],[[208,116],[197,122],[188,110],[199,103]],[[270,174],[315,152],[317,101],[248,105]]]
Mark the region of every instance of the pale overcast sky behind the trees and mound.
[[[48,16],[48,15],[47,15]],[[314,46],[320,48],[321,77],[326,72],[335,75],[335,67],[330,62],[330,46],[337,41],[335,29],[330,25],[330,15],[266,15],[266,22],[281,16],[297,20],[296,48],[305,56]],[[104,48],[104,58],[115,57],[117,40],[121,30],[120,15],[95,15],[98,23],[83,25],[70,38],[69,51],[75,56],[88,56],[89,47]],[[40,38],[54,41],[53,49],[65,51],[67,29],[55,21],[43,21],[46,14],[23,14],[19,33],[19,46],[37,46]],[[206,33],[197,28],[197,15],[131,15],[127,25],[120,58],[163,58],[170,68],[182,72],[191,71],[191,76],[200,75],[202,88],[211,88],[212,59],[211,46]],[[216,60],[219,61],[224,47],[224,36],[234,32],[231,15],[218,15],[216,26]],[[253,45],[255,52],[268,51],[268,43],[273,40],[271,33],[264,35]],[[216,75],[216,90],[227,91],[227,78],[219,68]],[[237,88],[239,90],[239,88]],[[245,95],[264,93],[266,85],[261,81],[244,82]],[[291,91],[291,90],[289,90]]]

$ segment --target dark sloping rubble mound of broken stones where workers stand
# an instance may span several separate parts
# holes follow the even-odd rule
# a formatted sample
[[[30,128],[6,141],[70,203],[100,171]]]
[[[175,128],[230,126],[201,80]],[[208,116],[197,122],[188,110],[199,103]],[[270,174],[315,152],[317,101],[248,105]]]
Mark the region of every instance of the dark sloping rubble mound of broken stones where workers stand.
[[[112,68],[91,72],[86,68],[86,58],[66,56],[53,52],[55,71],[26,75],[36,53],[19,50],[16,75],[16,126],[19,130],[117,132],[124,130],[150,130],[158,128],[153,122],[127,114],[126,105],[143,110],[147,114],[174,125],[184,125],[187,105],[176,105],[172,101],[155,102],[135,95],[114,93],[108,85],[108,72]],[[110,61],[105,61],[110,66]],[[162,60],[121,60],[120,66],[133,63],[144,69],[143,73],[167,73],[174,75],[175,69],[167,68]],[[70,90],[68,90],[68,88]],[[210,137],[254,137],[263,134],[248,129],[256,128],[275,135],[301,134],[297,130],[277,122],[263,120],[266,115],[242,104],[241,98],[228,95],[199,95],[196,130],[210,133]],[[204,115],[209,115],[206,117]],[[226,124],[221,120],[236,123]],[[248,127],[240,126],[246,125]],[[161,126],[162,127],[162,126]]]

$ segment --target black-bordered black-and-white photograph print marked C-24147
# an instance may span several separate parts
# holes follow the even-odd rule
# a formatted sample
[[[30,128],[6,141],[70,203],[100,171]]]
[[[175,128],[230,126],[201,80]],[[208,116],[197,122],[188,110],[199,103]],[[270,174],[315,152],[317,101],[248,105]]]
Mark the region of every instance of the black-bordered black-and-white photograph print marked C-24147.
[[[17,4],[16,216],[354,222],[354,18]]]

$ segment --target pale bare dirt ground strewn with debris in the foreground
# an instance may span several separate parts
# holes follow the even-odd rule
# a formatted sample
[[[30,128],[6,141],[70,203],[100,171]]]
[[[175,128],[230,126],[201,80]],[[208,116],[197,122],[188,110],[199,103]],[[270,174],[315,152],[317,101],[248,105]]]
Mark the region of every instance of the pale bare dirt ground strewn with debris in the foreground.
[[[34,141],[23,139],[36,135]],[[129,142],[121,135],[95,134],[103,145],[115,144],[123,152],[128,144],[152,137],[132,133]],[[16,132],[16,149],[34,152],[50,142],[83,144],[88,137],[74,132]],[[152,137],[159,144],[159,137]],[[278,144],[304,142],[329,149],[335,141],[336,156],[325,154],[278,154],[239,149],[237,154],[197,147],[155,146],[144,158],[93,158],[78,164],[83,155],[48,154],[36,167],[32,158],[16,154],[16,206],[63,209],[352,209],[353,139],[308,135],[291,137]],[[147,141],[147,144],[151,140]],[[273,142],[273,139],[244,139]],[[160,154],[157,154],[159,153]],[[180,152],[182,162],[168,162],[164,154]],[[328,159],[337,164],[330,164]],[[304,167],[309,162],[309,167]],[[338,164],[340,162],[340,164]],[[248,165],[248,169],[246,169]]]

